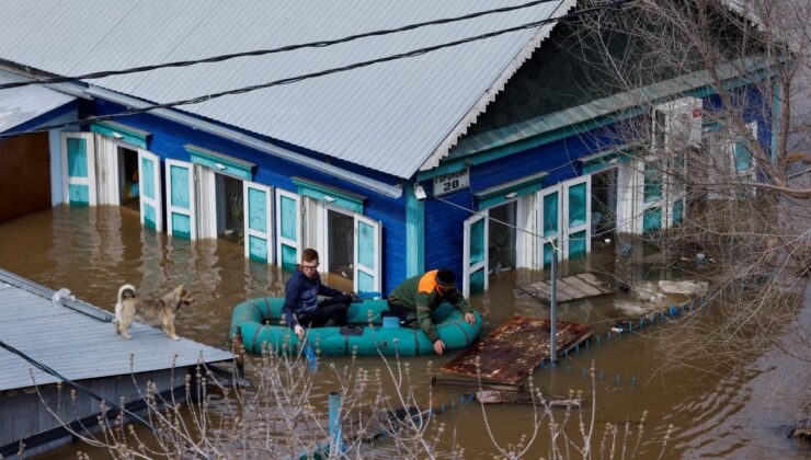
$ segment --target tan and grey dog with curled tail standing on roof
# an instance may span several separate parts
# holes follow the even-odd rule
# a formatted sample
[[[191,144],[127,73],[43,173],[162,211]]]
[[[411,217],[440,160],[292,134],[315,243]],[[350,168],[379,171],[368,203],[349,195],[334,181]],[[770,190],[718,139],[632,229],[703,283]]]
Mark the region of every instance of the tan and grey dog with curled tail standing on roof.
[[[174,317],[181,307],[191,304],[192,300],[183,285],[157,299],[142,299],[138,297],[135,286],[123,285],[118,288],[118,302],[115,304],[115,333],[130,338],[127,329],[138,319],[153,326],[162,326],[168,336],[179,341],[174,332]]]

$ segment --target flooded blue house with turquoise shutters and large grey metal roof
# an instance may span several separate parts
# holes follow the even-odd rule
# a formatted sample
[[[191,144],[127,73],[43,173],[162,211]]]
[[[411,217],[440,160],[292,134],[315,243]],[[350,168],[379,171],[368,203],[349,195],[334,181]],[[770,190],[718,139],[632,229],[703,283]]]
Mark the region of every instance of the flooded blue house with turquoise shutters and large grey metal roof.
[[[641,148],[676,129],[700,146],[713,129],[703,111],[718,104],[707,76],[656,82],[644,103],[601,93],[567,50],[573,25],[553,21],[574,0],[278,53],[248,51],[494,5],[193,3],[23,2],[0,18],[2,83],[244,53],[1,90],[2,142],[47,130],[19,161],[48,160],[30,173],[49,177],[36,185],[49,187],[48,205],[132,206],[153,231],[229,239],[283,267],[316,248],[322,271],[356,291],[388,292],[449,266],[466,295],[487,289],[490,273],[542,269],[553,254],[587,254],[606,232],[670,228],[687,211],[682,187],[626,154],[640,145],[610,134],[642,118],[652,136]],[[466,43],[441,46],[454,42]],[[390,58],[399,54],[410,57]],[[344,67],[356,68],[317,76]],[[726,78],[742,91],[750,82]],[[24,106],[7,103],[32,89]],[[770,120],[753,112],[751,125],[767,143]]]

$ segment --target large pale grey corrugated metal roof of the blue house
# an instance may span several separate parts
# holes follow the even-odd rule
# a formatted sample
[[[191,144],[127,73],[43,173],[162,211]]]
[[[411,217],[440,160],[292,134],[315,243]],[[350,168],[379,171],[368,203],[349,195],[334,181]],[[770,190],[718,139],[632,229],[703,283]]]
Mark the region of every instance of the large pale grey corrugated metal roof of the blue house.
[[[339,38],[525,0],[1,0],[0,58],[71,76]],[[316,49],[93,81],[170,102],[562,14],[573,0]],[[182,110],[410,177],[450,147],[550,25]],[[517,62],[517,65],[516,65]],[[436,160],[437,156],[434,156]]]

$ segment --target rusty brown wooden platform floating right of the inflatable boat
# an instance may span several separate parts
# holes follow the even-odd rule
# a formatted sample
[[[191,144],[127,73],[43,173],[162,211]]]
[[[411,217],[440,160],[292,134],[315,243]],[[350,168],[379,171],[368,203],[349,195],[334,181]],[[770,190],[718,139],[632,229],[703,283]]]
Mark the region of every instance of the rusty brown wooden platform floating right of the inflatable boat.
[[[517,317],[443,366],[437,384],[478,386],[517,391],[529,373],[550,358],[549,320]],[[591,335],[584,324],[558,322],[558,353],[573,348]],[[478,363],[478,368],[477,368]]]

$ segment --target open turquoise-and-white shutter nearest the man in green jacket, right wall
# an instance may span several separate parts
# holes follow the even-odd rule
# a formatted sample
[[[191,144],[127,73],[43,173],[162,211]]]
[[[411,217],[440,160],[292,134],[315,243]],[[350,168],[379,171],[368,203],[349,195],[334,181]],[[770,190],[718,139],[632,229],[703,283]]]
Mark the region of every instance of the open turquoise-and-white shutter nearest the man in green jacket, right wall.
[[[488,211],[483,210],[465,221],[462,281],[465,297],[488,288]]]

